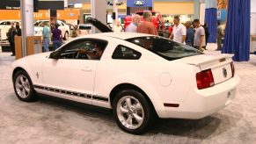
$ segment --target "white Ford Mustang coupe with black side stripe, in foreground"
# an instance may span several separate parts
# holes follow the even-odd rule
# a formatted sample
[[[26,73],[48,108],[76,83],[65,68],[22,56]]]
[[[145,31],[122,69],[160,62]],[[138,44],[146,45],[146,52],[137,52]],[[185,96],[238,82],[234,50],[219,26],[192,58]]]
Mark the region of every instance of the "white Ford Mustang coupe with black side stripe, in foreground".
[[[20,100],[41,93],[110,108],[118,126],[135,134],[155,116],[201,119],[218,112],[239,83],[231,55],[202,54],[142,33],[87,35],[12,66]]]

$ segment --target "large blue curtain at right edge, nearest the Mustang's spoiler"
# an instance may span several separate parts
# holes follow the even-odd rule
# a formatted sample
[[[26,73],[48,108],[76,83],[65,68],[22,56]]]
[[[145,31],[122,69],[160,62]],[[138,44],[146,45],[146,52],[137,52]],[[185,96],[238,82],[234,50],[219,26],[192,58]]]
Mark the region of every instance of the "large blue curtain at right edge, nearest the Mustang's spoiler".
[[[234,61],[250,59],[251,0],[229,0],[222,53],[234,54]]]

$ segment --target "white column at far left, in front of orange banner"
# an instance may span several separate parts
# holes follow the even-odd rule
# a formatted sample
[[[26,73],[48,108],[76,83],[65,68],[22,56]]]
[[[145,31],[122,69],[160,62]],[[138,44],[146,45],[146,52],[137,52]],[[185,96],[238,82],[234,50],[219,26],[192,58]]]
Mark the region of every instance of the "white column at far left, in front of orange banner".
[[[33,0],[20,0],[22,55],[26,56],[26,37],[33,36]]]

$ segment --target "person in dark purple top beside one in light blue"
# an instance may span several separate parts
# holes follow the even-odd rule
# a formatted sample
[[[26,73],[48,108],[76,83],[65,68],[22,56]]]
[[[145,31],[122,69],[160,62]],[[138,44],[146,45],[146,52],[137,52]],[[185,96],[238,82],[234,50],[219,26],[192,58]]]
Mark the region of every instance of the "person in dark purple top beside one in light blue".
[[[62,46],[62,31],[58,29],[59,25],[55,24],[55,29],[52,31],[54,49]]]

